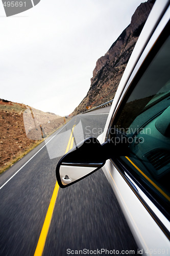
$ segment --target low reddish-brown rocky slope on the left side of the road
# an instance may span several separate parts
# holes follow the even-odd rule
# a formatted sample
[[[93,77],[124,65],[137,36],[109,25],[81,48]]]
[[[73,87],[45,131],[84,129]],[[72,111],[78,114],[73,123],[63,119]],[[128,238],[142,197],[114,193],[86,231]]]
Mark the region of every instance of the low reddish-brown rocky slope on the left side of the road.
[[[65,119],[0,99],[0,173],[61,126]]]

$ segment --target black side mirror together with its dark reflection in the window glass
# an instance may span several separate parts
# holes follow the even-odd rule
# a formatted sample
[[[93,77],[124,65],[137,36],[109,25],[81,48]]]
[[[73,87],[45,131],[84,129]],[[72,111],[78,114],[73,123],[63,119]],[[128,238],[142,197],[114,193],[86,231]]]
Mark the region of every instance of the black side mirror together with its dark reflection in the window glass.
[[[64,188],[87,177],[100,169],[107,159],[127,154],[128,147],[128,138],[120,131],[115,131],[113,140],[102,145],[93,137],[82,141],[58,162],[56,177],[59,186]]]

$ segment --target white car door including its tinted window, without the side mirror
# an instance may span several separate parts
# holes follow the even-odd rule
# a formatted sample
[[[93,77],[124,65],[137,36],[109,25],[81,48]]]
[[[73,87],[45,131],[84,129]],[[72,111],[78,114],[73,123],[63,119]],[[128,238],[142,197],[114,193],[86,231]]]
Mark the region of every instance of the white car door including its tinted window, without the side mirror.
[[[103,135],[114,144],[122,143],[115,140],[117,131],[126,136],[128,151],[118,156],[113,148],[103,170],[139,248],[149,255],[170,253],[168,19],[169,10],[142,51],[123,92],[117,93],[118,103],[112,106],[112,118]]]

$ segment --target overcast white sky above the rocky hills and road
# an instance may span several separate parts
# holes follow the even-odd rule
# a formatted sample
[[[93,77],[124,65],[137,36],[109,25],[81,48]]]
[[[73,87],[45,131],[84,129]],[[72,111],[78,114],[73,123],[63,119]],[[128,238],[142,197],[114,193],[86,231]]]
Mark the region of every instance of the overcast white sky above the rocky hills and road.
[[[70,114],[90,88],[96,61],[142,2],[41,0],[11,17],[0,3],[0,98]]]

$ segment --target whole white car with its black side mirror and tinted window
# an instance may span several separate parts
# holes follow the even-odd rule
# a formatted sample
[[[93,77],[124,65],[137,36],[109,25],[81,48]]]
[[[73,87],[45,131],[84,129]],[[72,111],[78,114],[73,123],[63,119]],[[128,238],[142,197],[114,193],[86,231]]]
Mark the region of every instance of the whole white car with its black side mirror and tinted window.
[[[170,254],[170,1],[157,0],[114,97],[104,132],[62,157],[64,188],[102,167],[139,247]],[[88,155],[85,154],[88,152]]]

